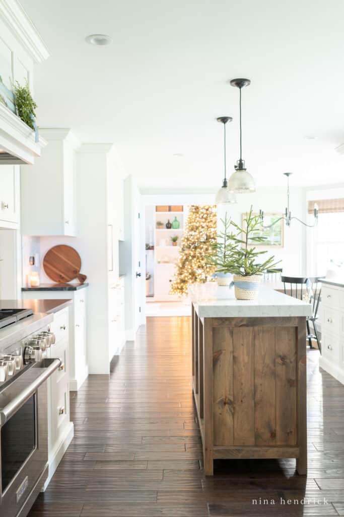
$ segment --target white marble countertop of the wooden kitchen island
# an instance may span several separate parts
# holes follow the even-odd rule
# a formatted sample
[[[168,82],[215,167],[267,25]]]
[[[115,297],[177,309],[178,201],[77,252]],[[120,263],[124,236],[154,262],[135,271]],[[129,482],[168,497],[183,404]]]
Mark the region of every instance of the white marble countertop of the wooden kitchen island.
[[[236,300],[234,288],[218,287],[216,300],[194,302],[200,318],[225,317],[306,317],[312,308],[305,301],[261,286],[257,300]]]

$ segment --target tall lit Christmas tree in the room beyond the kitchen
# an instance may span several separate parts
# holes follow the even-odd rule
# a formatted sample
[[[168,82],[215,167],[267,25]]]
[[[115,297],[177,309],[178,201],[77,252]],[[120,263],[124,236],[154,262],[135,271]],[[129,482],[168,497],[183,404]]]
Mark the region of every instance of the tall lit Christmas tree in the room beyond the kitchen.
[[[188,284],[206,282],[214,274],[215,267],[206,263],[206,256],[213,253],[216,234],[216,206],[190,206],[171,294],[186,295]]]

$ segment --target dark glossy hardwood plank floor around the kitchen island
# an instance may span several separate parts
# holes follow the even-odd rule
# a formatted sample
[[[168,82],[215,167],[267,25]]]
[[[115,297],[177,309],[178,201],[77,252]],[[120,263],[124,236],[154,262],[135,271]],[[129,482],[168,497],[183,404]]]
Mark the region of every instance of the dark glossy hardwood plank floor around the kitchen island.
[[[344,386],[318,358],[308,352],[307,478],[295,460],[218,460],[206,478],[190,318],[148,318],[110,378],[90,375],[71,394],[75,437],[29,516],[344,515]]]

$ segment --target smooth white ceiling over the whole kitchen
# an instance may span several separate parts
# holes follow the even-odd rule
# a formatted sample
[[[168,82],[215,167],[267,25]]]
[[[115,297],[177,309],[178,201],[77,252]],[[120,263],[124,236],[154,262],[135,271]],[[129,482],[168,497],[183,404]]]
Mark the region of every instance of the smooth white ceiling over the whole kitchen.
[[[342,0],[21,0],[51,50],[35,69],[41,126],[115,142],[143,188],[221,184],[243,158],[257,185],[344,181]],[[88,34],[113,38],[108,47]],[[306,140],[305,135],[317,135]],[[174,157],[182,153],[183,157]]]

